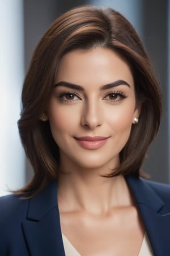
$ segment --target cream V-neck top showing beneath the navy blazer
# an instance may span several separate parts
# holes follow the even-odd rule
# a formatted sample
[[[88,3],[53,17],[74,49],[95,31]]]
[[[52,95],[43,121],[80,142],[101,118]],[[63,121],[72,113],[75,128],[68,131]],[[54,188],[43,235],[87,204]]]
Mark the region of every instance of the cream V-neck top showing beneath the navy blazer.
[[[66,256],[81,256],[78,253],[78,251],[74,248],[74,246],[70,243],[70,241],[67,240],[64,234],[62,234],[62,241]],[[141,249],[139,251],[138,256],[154,256],[146,233],[143,238]]]

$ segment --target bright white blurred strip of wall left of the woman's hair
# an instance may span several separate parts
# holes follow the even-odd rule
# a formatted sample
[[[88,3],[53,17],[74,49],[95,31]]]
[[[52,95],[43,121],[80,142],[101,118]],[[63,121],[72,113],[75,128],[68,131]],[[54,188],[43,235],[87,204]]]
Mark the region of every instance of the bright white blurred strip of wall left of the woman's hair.
[[[24,152],[17,120],[24,76],[23,1],[0,1],[0,195],[23,186]]]

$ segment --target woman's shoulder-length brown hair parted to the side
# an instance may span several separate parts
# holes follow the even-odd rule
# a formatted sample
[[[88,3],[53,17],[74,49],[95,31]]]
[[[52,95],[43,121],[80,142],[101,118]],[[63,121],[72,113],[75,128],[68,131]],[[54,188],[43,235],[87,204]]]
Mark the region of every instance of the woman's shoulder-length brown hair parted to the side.
[[[16,193],[33,196],[50,180],[57,180],[58,146],[50,132],[49,122],[42,122],[40,117],[48,107],[61,57],[73,49],[98,46],[113,49],[130,65],[137,102],[141,104],[139,123],[133,125],[130,138],[120,152],[120,167],[108,176],[141,175],[146,150],[160,124],[162,93],[158,81],[141,40],[124,16],[112,9],[82,6],[60,15],[33,53],[23,85],[18,127],[35,174],[32,181]]]

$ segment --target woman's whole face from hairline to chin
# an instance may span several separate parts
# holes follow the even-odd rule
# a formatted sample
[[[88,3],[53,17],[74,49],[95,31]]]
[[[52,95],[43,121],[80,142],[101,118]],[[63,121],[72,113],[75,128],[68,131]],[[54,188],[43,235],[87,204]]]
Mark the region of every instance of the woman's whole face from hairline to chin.
[[[128,141],[135,108],[128,64],[111,49],[66,53],[46,114],[61,166],[116,168]]]

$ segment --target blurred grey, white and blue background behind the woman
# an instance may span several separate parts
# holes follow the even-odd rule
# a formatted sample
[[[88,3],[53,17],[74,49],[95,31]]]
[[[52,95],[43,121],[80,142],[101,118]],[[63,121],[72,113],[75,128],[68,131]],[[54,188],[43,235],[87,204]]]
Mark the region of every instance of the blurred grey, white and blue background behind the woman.
[[[143,170],[152,180],[170,183],[170,1],[0,0],[0,196],[22,187],[32,177],[17,121],[22,83],[33,49],[59,14],[79,5],[107,6],[120,11],[141,37],[164,96],[162,125],[148,150]]]

